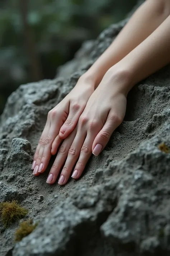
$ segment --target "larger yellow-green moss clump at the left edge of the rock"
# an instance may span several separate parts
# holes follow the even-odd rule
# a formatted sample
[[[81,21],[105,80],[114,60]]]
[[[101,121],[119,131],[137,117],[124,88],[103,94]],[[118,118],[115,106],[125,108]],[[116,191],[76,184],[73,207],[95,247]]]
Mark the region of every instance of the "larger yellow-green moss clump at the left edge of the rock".
[[[0,202],[0,215],[5,227],[16,220],[22,219],[27,213],[28,210],[21,207],[17,201]]]

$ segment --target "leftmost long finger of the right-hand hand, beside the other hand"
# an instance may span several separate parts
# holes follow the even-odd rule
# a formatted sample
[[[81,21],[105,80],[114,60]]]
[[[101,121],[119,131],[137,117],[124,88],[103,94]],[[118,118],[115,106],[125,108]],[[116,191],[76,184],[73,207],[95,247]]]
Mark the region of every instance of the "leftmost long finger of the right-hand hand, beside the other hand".
[[[71,144],[75,138],[76,135],[76,130],[73,131],[70,136],[65,139],[62,143],[62,145],[59,148],[58,154],[56,156],[56,159],[53,163],[53,166],[51,167],[51,170],[49,172],[48,178],[47,178],[47,183],[49,184],[53,184],[55,183],[57,176],[64,164],[64,162],[66,161],[69,149],[71,147]]]

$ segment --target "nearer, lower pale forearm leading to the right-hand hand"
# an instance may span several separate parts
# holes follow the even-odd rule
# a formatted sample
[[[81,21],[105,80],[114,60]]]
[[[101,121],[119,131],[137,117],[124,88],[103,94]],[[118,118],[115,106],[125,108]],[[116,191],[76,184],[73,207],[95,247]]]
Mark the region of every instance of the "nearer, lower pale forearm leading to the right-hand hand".
[[[124,83],[123,90],[126,94],[137,82],[170,63],[169,31],[170,15],[140,45],[109,69],[113,77],[117,72],[125,74],[128,82]]]

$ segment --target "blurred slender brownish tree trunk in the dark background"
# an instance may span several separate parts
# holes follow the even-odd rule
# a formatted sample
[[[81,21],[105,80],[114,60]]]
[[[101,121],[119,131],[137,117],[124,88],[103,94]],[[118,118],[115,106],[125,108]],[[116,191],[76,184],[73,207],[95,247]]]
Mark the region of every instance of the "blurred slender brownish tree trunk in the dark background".
[[[28,14],[28,1],[20,0],[20,12],[22,17],[23,32],[25,37],[25,48],[27,51],[28,58],[30,60],[30,71],[32,74],[33,81],[39,81],[43,78],[41,63],[38,58],[36,44],[33,39],[32,32],[27,22]]]

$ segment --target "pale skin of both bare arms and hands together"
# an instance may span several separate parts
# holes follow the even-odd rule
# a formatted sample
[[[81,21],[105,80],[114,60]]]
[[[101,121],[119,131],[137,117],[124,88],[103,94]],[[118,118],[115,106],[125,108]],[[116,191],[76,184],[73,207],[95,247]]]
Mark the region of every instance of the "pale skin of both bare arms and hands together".
[[[65,185],[70,176],[80,178],[91,154],[101,153],[123,121],[128,92],[170,62],[169,31],[170,0],[147,0],[138,8],[74,89],[49,111],[34,155],[35,176],[59,148],[47,183],[59,178],[58,184]]]

